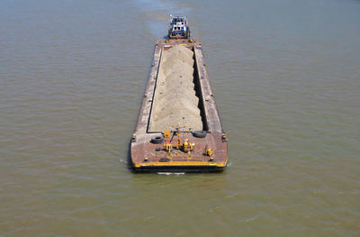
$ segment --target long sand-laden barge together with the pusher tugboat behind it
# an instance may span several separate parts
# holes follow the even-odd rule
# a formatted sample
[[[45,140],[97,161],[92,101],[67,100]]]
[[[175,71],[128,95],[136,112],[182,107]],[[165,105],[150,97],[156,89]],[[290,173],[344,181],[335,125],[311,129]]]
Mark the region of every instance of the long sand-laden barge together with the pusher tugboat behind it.
[[[185,27],[182,27],[185,26]],[[228,141],[202,54],[184,17],[155,46],[130,141],[134,171],[212,172],[228,163]]]

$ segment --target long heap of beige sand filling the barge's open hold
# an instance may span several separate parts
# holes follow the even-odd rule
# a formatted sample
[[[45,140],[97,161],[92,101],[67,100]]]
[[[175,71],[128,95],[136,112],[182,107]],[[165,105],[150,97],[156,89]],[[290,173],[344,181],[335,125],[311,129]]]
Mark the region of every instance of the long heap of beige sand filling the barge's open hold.
[[[193,51],[176,45],[163,52],[151,113],[150,131],[202,130],[199,98],[193,85]]]

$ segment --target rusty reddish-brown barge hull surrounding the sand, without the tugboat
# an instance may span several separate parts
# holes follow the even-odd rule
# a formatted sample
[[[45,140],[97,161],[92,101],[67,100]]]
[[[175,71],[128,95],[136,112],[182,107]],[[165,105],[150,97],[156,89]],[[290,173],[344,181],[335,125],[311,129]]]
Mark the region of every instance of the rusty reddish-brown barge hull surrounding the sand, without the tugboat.
[[[182,45],[193,51],[193,83],[199,97],[205,137],[195,136],[192,131],[152,131],[151,113],[157,90],[157,77],[161,58],[166,50]],[[180,119],[179,119],[180,120]],[[174,121],[177,123],[177,121]],[[152,142],[154,137],[161,142]],[[187,148],[189,144],[189,149]],[[198,40],[158,40],[148,76],[139,120],[130,141],[130,166],[134,171],[212,172],[222,171],[228,163],[228,141],[223,132],[215,104],[210,80]]]

